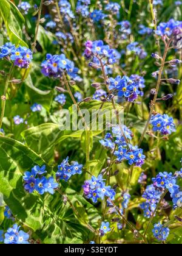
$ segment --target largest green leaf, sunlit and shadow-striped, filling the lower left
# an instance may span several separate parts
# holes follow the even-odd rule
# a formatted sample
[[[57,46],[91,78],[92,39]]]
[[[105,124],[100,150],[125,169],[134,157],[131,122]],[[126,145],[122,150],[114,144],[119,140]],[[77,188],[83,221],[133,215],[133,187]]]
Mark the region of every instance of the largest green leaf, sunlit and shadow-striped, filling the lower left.
[[[35,152],[18,141],[0,137],[0,163],[0,192],[5,203],[16,219],[36,232],[42,243],[83,243],[87,239],[90,231],[79,224],[60,194],[39,196],[25,192],[24,171],[45,164]]]

